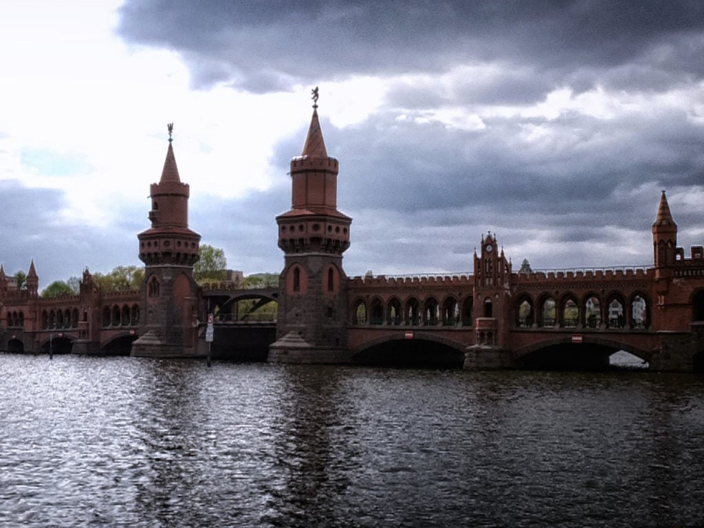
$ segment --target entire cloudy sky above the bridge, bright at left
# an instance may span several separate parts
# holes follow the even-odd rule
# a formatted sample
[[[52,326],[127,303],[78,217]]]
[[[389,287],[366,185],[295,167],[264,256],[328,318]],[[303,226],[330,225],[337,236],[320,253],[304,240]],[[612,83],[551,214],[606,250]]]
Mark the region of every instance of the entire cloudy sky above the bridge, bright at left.
[[[620,4],[621,7],[615,6]],[[704,243],[704,2],[10,1],[0,262],[40,286],[139,264],[174,122],[189,223],[279,272],[320,87],[348,275],[650,265],[667,190]]]

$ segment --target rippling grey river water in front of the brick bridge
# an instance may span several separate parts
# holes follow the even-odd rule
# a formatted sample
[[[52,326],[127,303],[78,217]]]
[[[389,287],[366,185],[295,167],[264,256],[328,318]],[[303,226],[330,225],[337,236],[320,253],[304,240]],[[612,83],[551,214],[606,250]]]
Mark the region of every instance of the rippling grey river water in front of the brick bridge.
[[[0,526],[704,523],[704,378],[0,354]]]

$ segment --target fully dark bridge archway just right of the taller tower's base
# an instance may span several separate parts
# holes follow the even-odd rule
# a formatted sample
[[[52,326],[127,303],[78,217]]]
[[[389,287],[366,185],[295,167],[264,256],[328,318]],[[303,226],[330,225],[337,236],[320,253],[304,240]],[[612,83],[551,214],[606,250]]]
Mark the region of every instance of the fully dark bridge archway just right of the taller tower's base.
[[[353,363],[379,367],[462,368],[465,344],[439,336],[388,336],[351,351]]]

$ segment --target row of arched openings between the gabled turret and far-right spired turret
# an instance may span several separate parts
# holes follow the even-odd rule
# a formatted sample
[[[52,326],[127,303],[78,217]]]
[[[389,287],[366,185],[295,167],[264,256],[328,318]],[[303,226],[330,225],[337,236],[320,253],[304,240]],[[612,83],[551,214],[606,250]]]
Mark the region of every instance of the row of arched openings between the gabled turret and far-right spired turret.
[[[535,302],[527,294],[518,297],[515,307],[517,327],[646,329],[650,327],[651,305],[643,293],[624,298],[614,293],[603,299],[588,294],[581,300],[567,294],[557,301],[549,295]]]

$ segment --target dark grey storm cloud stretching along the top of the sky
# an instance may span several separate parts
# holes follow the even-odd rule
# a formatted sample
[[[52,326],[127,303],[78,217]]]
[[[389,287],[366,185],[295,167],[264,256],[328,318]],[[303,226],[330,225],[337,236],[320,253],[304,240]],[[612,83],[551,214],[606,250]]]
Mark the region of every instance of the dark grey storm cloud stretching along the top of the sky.
[[[633,77],[650,86],[651,79],[667,83],[668,76],[673,82],[704,71],[698,0],[127,0],[120,14],[123,38],[179,51],[196,85],[226,81],[253,92],[312,77],[438,73],[477,61],[532,75],[522,97],[570,77],[581,78],[574,87],[582,89],[600,80],[580,75],[584,68],[616,69],[614,82]],[[640,66],[622,68],[630,63]],[[508,100],[521,94],[520,75],[494,81]],[[500,96],[488,84],[470,94]]]

